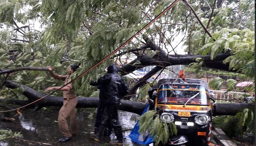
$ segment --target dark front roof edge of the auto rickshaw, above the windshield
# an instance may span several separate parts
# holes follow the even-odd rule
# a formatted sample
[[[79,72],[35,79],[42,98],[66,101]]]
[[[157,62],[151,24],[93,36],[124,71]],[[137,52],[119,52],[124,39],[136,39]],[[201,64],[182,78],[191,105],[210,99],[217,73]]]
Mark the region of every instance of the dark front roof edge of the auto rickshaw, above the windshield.
[[[162,78],[158,81],[156,88],[159,88],[162,84],[196,84],[203,85],[206,90],[209,90],[206,81],[200,79],[186,78],[186,81],[184,82],[182,78]]]

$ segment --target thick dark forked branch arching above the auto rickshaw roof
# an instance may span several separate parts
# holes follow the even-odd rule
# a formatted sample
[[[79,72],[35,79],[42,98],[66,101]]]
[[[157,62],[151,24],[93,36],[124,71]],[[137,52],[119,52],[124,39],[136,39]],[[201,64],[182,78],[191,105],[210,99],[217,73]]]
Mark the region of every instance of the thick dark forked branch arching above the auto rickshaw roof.
[[[143,47],[144,49],[150,48],[151,50],[159,51],[159,52],[155,54],[152,58],[150,58],[147,54],[139,55],[139,57],[134,59],[132,62],[122,66],[119,72],[122,73],[121,75],[126,75],[129,73],[132,73],[133,71],[139,68],[143,68],[144,66],[157,66],[157,68],[155,68],[154,70],[151,70],[144,77],[140,78],[138,83],[130,89],[130,92],[128,93],[128,95],[133,95],[136,89],[138,89],[138,87],[145,84],[147,79],[153,76],[159,70],[171,65],[189,65],[195,62],[195,58],[203,58],[204,67],[206,68],[237,72],[237,70],[230,70],[229,64],[223,63],[223,60],[231,56],[230,51],[227,51],[225,53],[218,53],[214,59],[211,59],[211,54],[209,55],[169,55],[161,47],[159,47],[158,45],[155,45],[155,43],[151,41],[149,38],[147,38],[146,36],[143,36],[143,39],[145,42],[147,42],[147,47]],[[141,65],[139,66],[133,65],[137,61],[139,61]],[[127,97],[127,99],[129,98],[131,98],[131,96]]]

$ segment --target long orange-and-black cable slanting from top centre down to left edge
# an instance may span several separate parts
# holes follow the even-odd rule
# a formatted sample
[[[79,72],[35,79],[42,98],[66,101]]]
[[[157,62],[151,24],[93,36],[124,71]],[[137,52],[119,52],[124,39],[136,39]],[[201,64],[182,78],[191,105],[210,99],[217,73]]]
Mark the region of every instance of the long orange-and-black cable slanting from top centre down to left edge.
[[[114,50],[112,53],[110,53],[108,56],[106,56],[104,59],[102,59],[101,61],[99,61],[97,64],[95,64],[93,67],[91,67],[90,69],[86,70],[85,72],[83,72],[82,74],[80,74],[78,77],[74,78],[73,80],[71,80],[70,82],[74,82],[76,81],[78,78],[82,77],[84,74],[88,73],[90,70],[92,70],[93,68],[95,68],[96,66],[98,66],[99,64],[101,64],[103,61],[105,61],[106,59],[108,59],[110,56],[112,56],[113,54],[115,54],[118,50],[120,50],[123,46],[125,46],[128,42],[130,42],[133,38],[136,37],[136,35],[140,34],[140,32],[142,32],[144,29],[146,29],[148,26],[150,26],[153,22],[155,22],[155,20],[157,20],[159,17],[161,17],[163,14],[165,14],[165,12],[167,12],[170,8],[173,7],[173,5],[175,5],[176,3],[178,3],[179,0],[175,0],[172,4],[170,4],[165,10],[163,10],[157,17],[155,17],[153,20],[151,20],[146,26],[144,26],[140,31],[138,31],[135,35],[133,35],[130,39],[128,39],[128,41],[126,41],[125,43],[123,43],[123,45],[121,45],[120,47],[118,47],[116,50]],[[61,88],[67,86],[70,82],[68,82],[67,84],[63,85]],[[38,100],[35,100],[27,105],[24,105],[22,107],[19,107],[19,108],[15,108],[15,109],[12,109],[12,110],[8,110],[8,111],[14,111],[14,110],[19,110],[20,108],[23,108],[23,107],[26,107],[26,106],[29,106],[39,100],[42,100],[44,99],[45,97],[49,96],[49,95],[52,95],[53,93],[55,93],[56,91],[60,90],[61,88],[49,93],[48,95],[38,99]],[[0,111],[0,112],[8,112],[8,111]]]

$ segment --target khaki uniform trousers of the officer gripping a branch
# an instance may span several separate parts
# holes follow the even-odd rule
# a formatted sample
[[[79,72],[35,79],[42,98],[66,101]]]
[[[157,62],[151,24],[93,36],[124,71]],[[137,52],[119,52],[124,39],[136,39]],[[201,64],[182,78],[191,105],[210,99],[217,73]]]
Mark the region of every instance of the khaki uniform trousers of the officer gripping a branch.
[[[63,105],[59,111],[58,124],[61,133],[64,137],[72,137],[72,134],[77,132],[77,123],[76,123],[76,104],[78,99],[64,100]],[[70,119],[70,130],[68,128],[67,118]]]

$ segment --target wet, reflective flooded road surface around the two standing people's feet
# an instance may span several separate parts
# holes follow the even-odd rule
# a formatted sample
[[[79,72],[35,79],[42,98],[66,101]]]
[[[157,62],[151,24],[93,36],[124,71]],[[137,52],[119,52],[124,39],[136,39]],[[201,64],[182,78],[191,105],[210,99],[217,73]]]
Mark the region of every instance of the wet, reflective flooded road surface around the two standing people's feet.
[[[115,138],[113,132],[110,137],[102,136],[100,142],[95,142],[90,138],[90,132],[93,131],[95,118],[88,119],[90,112],[84,112],[82,109],[77,109],[76,112],[79,129],[76,137],[72,138],[69,142],[59,143],[58,139],[63,137],[63,135],[57,123],[58,112],[59,109],[47,113],[39,111],[32,113],[31,110],[25,110],[22,112],[23,115],[14,117],[14,122],[0,121],[0,129],[12,130],[12,132],[20,132],[22,134],[22,137],[19,137],[20,139],[8,138],[1,140],[0,146],[42,146],[42,144],[35,142],[48,143],[51,144],[50,146],[111,146],[108,142],[110,139]],[[118,111],[118,115],[123,127],[123,146],[141,146],[132,143],[128,138],[140,116],[124,111]]]

